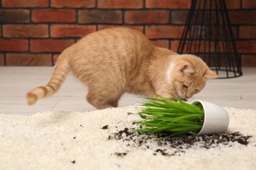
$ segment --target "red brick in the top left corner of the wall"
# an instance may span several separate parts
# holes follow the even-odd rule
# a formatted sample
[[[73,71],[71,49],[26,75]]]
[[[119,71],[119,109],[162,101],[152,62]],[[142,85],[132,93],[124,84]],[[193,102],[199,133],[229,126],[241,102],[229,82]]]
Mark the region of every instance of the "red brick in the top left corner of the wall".
[[[2,0],[5,8],[49,7],[49,0]]]

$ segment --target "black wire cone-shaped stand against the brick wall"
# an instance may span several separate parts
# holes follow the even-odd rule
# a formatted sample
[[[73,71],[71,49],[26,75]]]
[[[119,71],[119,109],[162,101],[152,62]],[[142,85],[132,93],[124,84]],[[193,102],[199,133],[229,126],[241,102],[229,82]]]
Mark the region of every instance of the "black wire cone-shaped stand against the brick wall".
[[[192,0],[178,53],[202,58],[219,78],[242,76],[224,0]]]

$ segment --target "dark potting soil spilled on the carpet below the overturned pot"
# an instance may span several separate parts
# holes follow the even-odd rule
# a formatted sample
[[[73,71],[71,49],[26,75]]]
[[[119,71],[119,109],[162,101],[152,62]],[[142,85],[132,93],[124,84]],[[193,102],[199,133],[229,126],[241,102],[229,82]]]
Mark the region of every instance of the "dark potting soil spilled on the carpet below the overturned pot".
[[[221,144],[232,147],[234,143],[243,145],[248,144],[251,136],[242,135],[239,132],[219,133],[215,135],[177,135],[175,137],[167,137],[167,133],[154,133],[151,135],[141,135],[133,129],[125,127],[123,130],[112,133],[108,136],[108,140],[123,141],[129,147],[139,146],[142,149],[154,149],[153,155],[161,154],[163,156],[180,156],[186,152],[186,149],[194,146],[198,148],[215,148]],[[161,139],[160,139],[161,138]],[[160,139],[160,140],[156,140]],[[156,149],[157,148],[157,149]],[[169,150],[171,149],[171,152]],[[117,156],[125,156],[127,153],[116,153]]]

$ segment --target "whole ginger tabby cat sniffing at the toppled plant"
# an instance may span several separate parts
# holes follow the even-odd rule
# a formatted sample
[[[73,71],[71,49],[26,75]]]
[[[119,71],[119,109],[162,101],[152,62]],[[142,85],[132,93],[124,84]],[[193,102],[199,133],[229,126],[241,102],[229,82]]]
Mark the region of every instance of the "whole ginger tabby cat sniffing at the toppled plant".
[[[117,107],[125,92],[185,100],[200,92],[207,78],[217,77],[196,56],[159,48],[134,29],[112,27],[66,48],[48,84],[27,93],[28,105],[56,93],[69,71],[88,86],[87,101],[96,109]]]

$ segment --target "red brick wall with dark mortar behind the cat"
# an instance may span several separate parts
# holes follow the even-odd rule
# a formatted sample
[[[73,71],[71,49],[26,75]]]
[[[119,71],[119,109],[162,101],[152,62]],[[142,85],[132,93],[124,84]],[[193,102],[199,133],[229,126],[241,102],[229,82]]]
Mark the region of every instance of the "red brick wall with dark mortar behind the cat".
[[[256,1],[226,0],[243,66],[256,66]],[[177,50],[190,0],[0,0],[0,65],[53,65],[79,38],[113,25]]]

